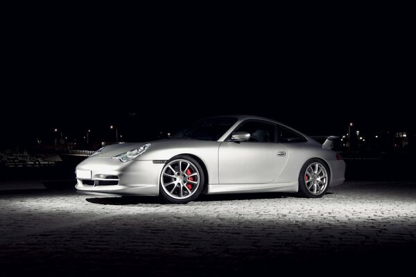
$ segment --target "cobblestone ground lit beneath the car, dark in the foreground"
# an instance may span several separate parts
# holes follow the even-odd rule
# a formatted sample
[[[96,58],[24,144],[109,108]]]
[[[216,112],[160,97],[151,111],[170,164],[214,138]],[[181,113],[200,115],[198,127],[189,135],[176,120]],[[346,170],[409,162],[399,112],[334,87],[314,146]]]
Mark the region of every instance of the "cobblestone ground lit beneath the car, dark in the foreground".
[[[218,195],[187,205],[4,188],[1,276],[413,271],[414,183],[349,181],[322,199]]]

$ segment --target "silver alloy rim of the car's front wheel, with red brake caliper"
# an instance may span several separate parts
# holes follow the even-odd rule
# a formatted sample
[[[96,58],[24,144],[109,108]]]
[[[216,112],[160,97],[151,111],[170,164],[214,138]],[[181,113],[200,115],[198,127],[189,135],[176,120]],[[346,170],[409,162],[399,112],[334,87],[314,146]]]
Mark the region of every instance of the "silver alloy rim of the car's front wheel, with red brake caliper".
[[[163,168],[160,181],[167,195],[175,199],[187,199],[198,190],[200,172],[190,161],[177,159]]]

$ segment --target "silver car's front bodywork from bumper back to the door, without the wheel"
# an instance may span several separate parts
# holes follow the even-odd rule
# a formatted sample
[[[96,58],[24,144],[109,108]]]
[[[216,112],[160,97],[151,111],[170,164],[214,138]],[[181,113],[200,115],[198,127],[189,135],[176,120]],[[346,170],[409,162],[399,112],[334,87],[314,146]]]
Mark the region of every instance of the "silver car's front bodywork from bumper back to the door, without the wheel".
[[[184,153],[200,157],[207,175],[215,182],[219,145],[217,141],[190,139],[107,145],[78,164],[76,189],[95,195],[157,196],[166,161]]]

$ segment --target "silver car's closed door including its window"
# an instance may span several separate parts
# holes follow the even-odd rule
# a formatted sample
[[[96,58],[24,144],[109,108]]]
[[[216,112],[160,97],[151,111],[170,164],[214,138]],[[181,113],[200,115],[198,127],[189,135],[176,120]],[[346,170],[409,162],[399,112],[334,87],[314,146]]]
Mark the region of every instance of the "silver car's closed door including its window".
[[[288,150],[276,143],[277,125],[263,120],[246,120],[234,132],[250,133],[250,140],[221,143],[218,150],[220,184],[266,184],[283,170]],[[233,133],[234,133],[233,132]]]

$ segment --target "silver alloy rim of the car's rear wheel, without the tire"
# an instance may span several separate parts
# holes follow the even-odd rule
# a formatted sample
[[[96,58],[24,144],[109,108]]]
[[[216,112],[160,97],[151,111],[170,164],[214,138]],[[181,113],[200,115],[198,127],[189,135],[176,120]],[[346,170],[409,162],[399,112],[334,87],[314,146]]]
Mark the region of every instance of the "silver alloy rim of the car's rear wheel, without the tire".
[[[306,168],[305,175],[306,188],[313,195],[321,195],[328,186],[327,169],[322,163],[311,163]]]

